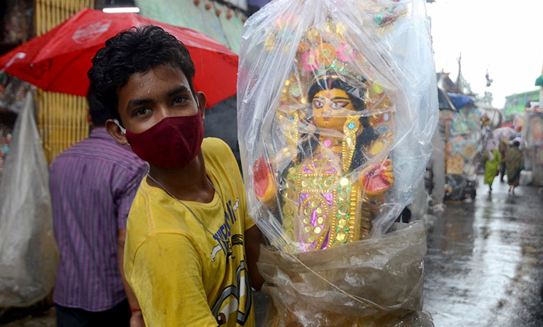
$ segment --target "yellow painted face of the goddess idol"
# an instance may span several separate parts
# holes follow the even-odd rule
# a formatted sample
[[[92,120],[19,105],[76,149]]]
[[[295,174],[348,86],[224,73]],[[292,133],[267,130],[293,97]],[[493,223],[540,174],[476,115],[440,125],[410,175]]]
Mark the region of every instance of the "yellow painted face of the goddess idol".
[[[312,99],[313,119],[319,129],[334,129],[343,132],[343,125],[355,111],[349,95],[344,90],[333,88],[322,90]]]

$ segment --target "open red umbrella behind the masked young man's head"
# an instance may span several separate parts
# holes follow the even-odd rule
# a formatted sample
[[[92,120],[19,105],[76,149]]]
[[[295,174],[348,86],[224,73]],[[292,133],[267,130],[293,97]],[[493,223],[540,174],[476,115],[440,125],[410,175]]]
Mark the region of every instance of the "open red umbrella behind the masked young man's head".
[[[207,106],[236,93],[237,54],[209,36],[134,13],[84,9],[51,31],[0,57],[0,70],[49,91],[85,96],[91,58],[107,39],[132,26],[153,24],[175,35],[189,49],[196,67],[194,87]]]

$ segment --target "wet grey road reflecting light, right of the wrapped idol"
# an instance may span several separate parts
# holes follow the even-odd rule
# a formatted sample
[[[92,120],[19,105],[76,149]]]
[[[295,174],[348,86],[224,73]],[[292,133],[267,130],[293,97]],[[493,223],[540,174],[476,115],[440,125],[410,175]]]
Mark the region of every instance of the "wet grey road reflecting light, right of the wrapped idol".
[[[480,181],[482,182],[482,180]],[[481,185],[428,229],[424,307],[436,327],[543,326],[543,197]]]

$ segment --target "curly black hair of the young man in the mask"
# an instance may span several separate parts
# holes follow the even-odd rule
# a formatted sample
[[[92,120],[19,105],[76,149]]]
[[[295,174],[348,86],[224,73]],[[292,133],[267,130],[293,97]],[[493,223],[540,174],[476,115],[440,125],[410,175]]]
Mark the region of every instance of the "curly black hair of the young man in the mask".
[[[147,72],[158,65],[179,67],[195,95],[192,83],[195,70],[189,50],[159,26],[132,27],[118,33],[97,51],[92,62],[93,67],[88,70],[91,88],[111,117],[119,121],[117,91],[132,74]]]

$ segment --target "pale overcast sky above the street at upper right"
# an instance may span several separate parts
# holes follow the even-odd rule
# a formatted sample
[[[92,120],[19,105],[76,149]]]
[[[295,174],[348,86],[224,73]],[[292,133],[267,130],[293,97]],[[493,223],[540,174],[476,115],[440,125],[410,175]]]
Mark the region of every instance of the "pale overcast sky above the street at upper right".
[[[485,72],[494,79],[492,104],[503,108],[505,96],[537,90],[543,67],[543,0],[436,0],[427,3],[432,17],[436,71],[456,80],[462,74],[473,92],[485,93]]]

